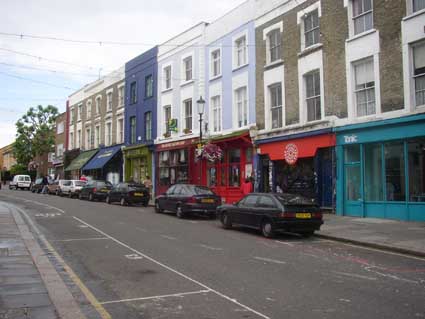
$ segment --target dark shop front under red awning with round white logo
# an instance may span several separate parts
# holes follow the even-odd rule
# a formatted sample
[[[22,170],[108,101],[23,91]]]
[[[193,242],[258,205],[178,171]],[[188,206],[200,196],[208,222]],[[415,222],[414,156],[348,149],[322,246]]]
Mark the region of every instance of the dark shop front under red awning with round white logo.
[[[261,192],[302,194],[334,208],[335,135],[331,129],[256,141]]]

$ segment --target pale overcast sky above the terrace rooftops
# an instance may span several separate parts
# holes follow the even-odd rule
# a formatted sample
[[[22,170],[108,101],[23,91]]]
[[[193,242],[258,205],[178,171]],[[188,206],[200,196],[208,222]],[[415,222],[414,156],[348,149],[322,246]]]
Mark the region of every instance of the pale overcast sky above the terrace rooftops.
[[[96,80],[99,71],[105,75],[154,45],[201,21],[211,22],[242,2],[0,0],[0,147],[13,142],[15,122],[29,107],[51,104],[63,112],[67,97]],[[25,35],[143,45],[78,44]]]

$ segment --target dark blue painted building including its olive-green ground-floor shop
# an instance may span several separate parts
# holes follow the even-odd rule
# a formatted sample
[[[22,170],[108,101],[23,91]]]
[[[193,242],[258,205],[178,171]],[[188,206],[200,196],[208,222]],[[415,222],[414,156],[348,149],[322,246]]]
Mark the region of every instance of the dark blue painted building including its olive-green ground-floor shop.
[[[154,180],[157,137],[158,47],[125,65],[125,180]]]

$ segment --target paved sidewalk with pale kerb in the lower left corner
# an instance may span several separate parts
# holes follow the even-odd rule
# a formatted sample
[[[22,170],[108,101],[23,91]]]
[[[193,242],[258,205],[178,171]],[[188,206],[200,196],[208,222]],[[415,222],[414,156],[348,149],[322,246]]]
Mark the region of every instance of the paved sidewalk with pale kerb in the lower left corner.
[[[2,202],[0,318],[84,318],[20,214]]]

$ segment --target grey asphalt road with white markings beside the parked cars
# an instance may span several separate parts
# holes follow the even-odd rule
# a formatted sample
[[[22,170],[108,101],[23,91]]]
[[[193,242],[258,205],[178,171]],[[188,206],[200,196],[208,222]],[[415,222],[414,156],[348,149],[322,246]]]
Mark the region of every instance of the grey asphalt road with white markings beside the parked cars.
[[[56,251],[88,318],[425,317],[425,259],[152,208],[5,189],[0,200]]]

